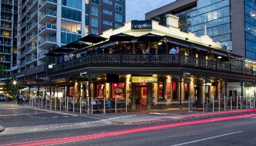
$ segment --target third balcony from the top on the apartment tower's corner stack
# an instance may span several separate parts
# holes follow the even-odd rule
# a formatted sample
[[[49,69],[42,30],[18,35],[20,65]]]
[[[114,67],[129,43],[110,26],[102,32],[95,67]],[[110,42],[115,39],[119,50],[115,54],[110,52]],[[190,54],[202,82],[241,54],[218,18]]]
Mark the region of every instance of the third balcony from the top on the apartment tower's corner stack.
[[[56,34],[57,27],[56,24],[46,23],[44,26],[38,29],[38,35],[40,36],[52,36]]]

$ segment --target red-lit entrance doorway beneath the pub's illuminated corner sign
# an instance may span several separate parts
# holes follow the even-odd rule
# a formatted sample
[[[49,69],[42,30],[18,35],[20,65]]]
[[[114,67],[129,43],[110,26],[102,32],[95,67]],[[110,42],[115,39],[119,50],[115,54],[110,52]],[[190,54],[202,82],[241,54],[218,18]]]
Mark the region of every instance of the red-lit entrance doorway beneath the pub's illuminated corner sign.
[[[147,85],[136,85],[136,110],[147,109],[148,89]]]

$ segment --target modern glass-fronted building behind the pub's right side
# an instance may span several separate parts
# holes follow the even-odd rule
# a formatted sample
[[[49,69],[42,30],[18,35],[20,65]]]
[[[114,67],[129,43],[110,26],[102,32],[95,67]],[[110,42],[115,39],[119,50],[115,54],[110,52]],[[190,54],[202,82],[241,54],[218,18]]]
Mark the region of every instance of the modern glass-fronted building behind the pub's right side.
[[[182,31],[220,41],[223,49],[246,59],[246,67],[256,69],[256,1],[177,0],[146,13],[146,19],[166,26],[166,14],[179,17]]]

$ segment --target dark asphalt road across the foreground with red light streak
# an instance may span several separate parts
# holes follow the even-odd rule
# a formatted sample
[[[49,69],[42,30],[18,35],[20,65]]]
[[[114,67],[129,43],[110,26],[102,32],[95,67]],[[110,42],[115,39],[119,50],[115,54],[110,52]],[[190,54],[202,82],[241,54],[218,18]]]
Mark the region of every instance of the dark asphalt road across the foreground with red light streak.
[[[117,125],[0,103],[1,145],[256,145],[256,112]]]

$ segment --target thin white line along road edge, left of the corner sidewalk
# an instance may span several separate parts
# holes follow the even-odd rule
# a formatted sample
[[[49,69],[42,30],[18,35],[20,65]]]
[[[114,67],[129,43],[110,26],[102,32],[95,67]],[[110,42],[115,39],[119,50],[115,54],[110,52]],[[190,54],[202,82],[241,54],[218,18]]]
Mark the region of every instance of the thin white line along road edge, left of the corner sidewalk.
[[[67,127],[71,127],[71,126],[79,126],[79,125],[84,125],[84,124],[92,124],[92,123],[95,123],[95,122],[103,122],[103,121],[107,121],[107,120],[120,119],[120,118],[124,118],[124,117],[133,117],[133,116],[136,116],[136,115],[127,115],[127,116],[122,116],[122,117],[115,117],[115,118],[104,119],[104,120],[96,120],[96,121],[92,121],[92,122],[83,122],[83,123],[79,123],[79,124],[71,124],[71,125],[65,125],[65,126],[32,129],[32,130],[29,130],[29,131],[38,131],[38,130],[46,130],[46,129],[57,129],[57,128],[67,128]]]

